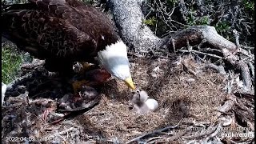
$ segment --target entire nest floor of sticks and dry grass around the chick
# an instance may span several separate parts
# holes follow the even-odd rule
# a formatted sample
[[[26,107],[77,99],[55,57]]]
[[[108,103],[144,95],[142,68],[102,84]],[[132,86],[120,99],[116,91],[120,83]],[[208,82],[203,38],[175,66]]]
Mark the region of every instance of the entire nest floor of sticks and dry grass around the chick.
[[[134,91],[114,78],[75,95],[70,81],[48,73],[41,63],[36,70],[23,70],[24,78],[6,91],[3,143],[10,137],[46,143],[125,143],[134,138],[130,143],[254,142],[254,94],[226,94],[230,78],[203,70],[204,63],[188,56],[131,63],[138,89],[159,103],[148,114],[132,110]],[[250,135],[224,135],[231,132]]]

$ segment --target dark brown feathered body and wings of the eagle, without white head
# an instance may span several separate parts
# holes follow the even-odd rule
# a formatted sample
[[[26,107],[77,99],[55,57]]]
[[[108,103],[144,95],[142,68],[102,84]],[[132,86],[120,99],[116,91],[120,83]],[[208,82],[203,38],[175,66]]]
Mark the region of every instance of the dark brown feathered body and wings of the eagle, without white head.
[[[82,2],[30,2],[6,9],[2,35],[38,58],[90,60],[118,40],[110,20]]]

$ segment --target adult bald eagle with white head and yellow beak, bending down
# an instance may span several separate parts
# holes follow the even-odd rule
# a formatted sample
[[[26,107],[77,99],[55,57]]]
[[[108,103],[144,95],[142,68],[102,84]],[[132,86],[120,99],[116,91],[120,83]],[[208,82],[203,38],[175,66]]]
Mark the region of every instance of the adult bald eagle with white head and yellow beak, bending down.
[[[73,62],[97,63],[135,89],[127,46],[105,14],[77,0],[29,0],[2,10],[2,37],[65,73]]]

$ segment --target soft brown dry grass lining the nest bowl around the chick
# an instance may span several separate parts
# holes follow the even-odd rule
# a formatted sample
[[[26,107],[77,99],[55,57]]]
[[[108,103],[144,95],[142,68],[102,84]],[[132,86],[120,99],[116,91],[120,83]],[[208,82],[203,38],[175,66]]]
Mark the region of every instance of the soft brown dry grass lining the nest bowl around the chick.
[[[159,108],[150,114],[134,114],[128,107],[132,94],[126,86],[122,82],[106,83],[100,105],[90,111],[90,114],[103,113],[91,116],[90,121],[106,134],[106,138],[117,137],[126,142],[178,122],[214,122],[214,111],[226,98],[222,91],[222,76],[206,72],[195,78],[180,67],[168,66],[170,62],[165,60],[137,62],[132,69],[134,82],[158,101]],[[154,72],[157,66],[160,70]]]

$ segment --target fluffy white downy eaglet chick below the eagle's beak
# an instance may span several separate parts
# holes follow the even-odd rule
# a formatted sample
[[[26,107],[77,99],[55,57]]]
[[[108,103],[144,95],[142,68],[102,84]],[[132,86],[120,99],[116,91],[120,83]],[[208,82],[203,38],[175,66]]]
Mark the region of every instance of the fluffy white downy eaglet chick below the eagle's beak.
[[[132,102],[134,103],[134,110],[138,114],[145,114],[158,108],[158,102],[153,98],[149,98],[144,90],[138,90],[137,93],[134,94]]]

